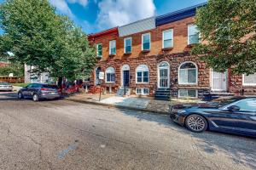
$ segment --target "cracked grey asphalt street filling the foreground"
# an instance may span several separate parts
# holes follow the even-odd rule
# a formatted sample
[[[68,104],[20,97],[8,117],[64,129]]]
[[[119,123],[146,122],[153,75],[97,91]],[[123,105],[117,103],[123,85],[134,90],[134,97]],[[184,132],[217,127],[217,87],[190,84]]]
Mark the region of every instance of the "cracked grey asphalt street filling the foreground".
[[[0,169],[256,169],[256,140],[168,116],[0,93]]]

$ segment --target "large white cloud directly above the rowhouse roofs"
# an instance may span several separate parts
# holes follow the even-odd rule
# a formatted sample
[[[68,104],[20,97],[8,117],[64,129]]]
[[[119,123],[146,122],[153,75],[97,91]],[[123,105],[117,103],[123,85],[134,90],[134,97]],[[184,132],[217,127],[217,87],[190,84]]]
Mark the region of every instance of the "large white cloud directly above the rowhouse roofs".
[[[153,0],[102,0],[98,6],[100,9],[97,16],[99,29],[123,26],[155,14]]]

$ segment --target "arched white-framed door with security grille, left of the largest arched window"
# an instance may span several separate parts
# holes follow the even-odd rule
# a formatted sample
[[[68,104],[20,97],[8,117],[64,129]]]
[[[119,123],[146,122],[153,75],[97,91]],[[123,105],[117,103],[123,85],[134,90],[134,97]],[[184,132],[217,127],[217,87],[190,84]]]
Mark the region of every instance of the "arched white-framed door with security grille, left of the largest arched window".
[[[160,63],[158,67],[158,88],[169,88],[169,64],[167,62]]]

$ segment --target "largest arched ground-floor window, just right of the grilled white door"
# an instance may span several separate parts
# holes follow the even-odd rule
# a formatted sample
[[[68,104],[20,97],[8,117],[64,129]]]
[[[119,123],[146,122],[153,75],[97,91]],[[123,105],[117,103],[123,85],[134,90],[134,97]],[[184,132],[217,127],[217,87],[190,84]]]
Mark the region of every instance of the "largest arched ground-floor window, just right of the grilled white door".
[[[197,67],[192,62],[185,62],[178,69],[179,84],[196,84],[197,83]]]

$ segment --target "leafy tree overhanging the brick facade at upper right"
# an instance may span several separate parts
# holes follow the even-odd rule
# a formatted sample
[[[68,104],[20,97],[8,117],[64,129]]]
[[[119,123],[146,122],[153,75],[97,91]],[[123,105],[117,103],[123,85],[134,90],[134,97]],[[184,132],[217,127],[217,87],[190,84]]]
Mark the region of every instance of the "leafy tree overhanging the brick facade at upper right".
[[[195,23],[202,43],[192,54],[202,56],[215,71],[256,72],[255,0],[209,0],[197,10]]]

